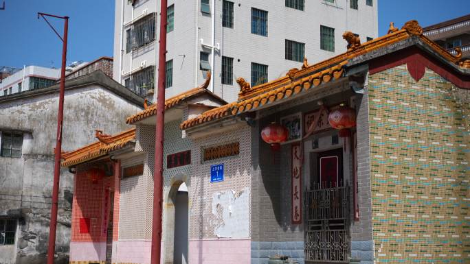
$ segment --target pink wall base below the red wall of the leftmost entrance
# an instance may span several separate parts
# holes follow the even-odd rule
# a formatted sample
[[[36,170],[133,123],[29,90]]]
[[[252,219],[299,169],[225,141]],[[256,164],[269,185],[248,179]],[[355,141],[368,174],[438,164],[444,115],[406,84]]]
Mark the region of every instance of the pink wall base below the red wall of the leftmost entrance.
[[[104,261],[106,242],[70,242],[70,261]]]

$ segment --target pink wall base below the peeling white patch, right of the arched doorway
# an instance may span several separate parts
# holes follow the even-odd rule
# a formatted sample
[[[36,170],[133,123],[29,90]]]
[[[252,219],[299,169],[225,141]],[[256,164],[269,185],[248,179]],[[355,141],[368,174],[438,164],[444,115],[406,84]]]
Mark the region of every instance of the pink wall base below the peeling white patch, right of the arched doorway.
[[[191,264],[249,264],[251,240],[214,239],[190,240],[189,263]]]

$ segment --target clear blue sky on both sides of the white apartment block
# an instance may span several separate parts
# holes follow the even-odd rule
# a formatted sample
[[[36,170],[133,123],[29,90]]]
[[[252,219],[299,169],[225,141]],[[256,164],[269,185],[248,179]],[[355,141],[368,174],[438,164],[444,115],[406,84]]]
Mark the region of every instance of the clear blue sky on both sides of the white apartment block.
[[[115,0],[0,0],[0,5],[3,1],[0,66],[60,67],[61,42],[43,20],[37,19],[37,12],[70,17],[67,64],[113,56]],[[401,27],[416,19],[425,27],[468,13],[469,0],[379,0],[379,36],[387,32],[390,21]],[[56,20],[54,25],[63,32],[62,21]]]

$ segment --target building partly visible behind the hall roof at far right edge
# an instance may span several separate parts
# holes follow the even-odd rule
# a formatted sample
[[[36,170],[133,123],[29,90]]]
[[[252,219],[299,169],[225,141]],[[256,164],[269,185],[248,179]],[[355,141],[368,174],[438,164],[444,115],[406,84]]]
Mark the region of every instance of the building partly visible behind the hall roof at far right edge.
[[[470,14],[429,25],[423,28],[423,32],[453,55],[461,53],[462,58],[470,58]]]

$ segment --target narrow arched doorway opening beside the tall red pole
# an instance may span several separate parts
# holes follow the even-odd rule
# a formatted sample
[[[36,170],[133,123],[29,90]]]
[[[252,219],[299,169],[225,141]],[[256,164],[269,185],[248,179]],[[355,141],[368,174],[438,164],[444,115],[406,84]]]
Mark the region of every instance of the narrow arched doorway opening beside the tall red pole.
[[[179,185],[175,197],[175,232],[173,235],[173,264],[188,263],[188,187]]]

